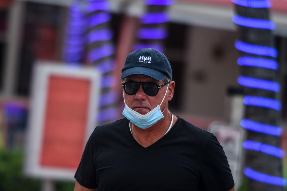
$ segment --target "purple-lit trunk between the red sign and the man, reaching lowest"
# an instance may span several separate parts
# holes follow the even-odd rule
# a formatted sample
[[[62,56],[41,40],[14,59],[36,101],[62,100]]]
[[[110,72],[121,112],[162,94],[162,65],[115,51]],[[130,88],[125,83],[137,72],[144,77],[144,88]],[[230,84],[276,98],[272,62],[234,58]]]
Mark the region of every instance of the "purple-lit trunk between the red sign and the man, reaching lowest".
[[[102,74],[102,89],[100,110],[97,121],[99,124],[108,123],[120,117],[117,111],[117,94],[112,91],[115,85],[113,71],[115,70],[112,43],[113,31],[110,29],[112,19],[107,0],[86,0],[88,15],[88,55],[87,61],[94,65]]]

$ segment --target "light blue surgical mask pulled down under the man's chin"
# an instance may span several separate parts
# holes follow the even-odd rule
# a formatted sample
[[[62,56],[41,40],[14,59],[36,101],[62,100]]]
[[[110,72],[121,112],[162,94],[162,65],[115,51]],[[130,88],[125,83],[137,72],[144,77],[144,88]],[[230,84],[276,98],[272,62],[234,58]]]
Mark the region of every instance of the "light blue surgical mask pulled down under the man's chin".
[[[168,90],[168,85],[167,85],[167,90]],[[164,98],[167,94],[167,91],[164,94]],[[164,98],[161,101],[164,101]],[[129,106],[126,105],[125,97],[123,96],[123,101],[125,102],[125,109],[123,110],[123,116],[125,116],[127,119],[129,119],[135,126],[141,128],[141,129],[146,129],[149,128],[150,126],[154,125],[157,123],[159,120],[164,118],[164,115],[161,112],[161,104],[157,105],[152,111],[149,111],[147,114],[140,114],[132,109],[129,108]]]

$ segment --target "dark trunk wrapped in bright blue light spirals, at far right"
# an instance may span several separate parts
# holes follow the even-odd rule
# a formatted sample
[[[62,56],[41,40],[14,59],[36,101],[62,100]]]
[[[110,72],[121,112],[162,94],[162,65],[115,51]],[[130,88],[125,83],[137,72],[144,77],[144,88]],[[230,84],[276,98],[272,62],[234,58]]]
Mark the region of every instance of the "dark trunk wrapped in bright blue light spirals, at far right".
[[[284,152],[280,149],[278,99],[278,56],[274,48],[272,30],[275,25],[269,19],[269,0],[232,0],[238,26],[239,39],[235,47],[241,56],[238,83],[245,88],[245,119],[241,126],[247,131],[244,174],[248,178],[248,190],[282,191],[286,180],[282,178]]]

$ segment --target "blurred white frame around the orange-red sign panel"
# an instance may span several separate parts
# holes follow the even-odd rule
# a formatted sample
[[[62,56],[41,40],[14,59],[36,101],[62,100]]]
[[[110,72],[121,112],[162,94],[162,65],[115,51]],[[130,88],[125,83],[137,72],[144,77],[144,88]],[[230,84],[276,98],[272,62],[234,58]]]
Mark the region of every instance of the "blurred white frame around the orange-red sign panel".
[[[46,97],[50,75],[76,77],[91,81],[88,117],[86,126],[87,141],[96,127],[98,102],[100,97],[101,74],[96,68],[83,68],[64,65],[64,63],[38,61],[33,71],[32,94],[30,97],[30,114],[26,136],[26,157],[24,172],[32,177],[46,179],[74,180],[76,169],[43,167],[39,164],[43,141]],[[85,145],[84,145],[85,146]],[[83,148],[84,149],[84,148]]]

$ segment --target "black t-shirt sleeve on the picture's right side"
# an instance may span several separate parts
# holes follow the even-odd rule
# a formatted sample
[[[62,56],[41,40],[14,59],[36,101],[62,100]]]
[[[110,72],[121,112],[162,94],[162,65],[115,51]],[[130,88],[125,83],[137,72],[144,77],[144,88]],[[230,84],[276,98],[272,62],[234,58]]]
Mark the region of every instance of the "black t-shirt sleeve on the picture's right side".
[[[214,135],[204,146],[200,164],[200,182],[204,191],[228,191],[234,187],[227,158]]]

